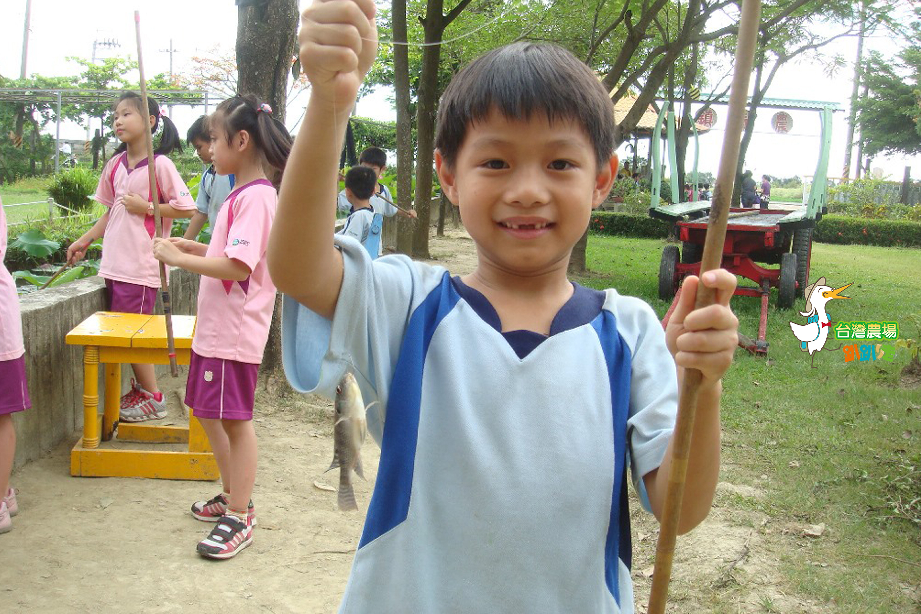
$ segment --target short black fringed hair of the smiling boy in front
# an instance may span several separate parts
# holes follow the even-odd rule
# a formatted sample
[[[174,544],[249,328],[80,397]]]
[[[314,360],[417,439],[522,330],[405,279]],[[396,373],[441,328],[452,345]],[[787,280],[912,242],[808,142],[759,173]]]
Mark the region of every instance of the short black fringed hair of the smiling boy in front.
[[[589,135],[599,165],[614,150],[614,105],[589,66],[550,43],[515,42],[467,64],[438,106],[435,146],[445,163],[457,160],[468,128],[496,109],[508,119],[545,114],[575,120]]]

